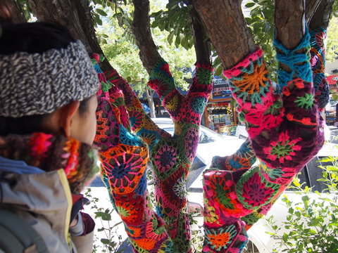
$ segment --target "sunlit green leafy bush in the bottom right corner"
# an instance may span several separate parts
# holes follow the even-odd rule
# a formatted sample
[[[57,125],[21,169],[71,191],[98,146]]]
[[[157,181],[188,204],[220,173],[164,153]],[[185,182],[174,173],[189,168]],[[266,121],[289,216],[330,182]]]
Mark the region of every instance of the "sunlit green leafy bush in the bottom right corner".
[[[268,219],[268,223],[273,228],[273,233],[270,234],[277,238],[279,245],[274,252],[337,252],[338,157],[327,157],[319,162],[332,163],[332,165],[319,166],[323,169],[323,178],[318,181],[325,183],[327,191],[311,193],[311,188],[307,186],[303,188],[299,179],[294,180],[293,188],[296,188],[302,197],[301,202],[292,202],[287,195],[282,198],[288,209],[287,221],[284,222],[287,233],[280,235],[278,232],[281,228],[274,225],[273,216]]]

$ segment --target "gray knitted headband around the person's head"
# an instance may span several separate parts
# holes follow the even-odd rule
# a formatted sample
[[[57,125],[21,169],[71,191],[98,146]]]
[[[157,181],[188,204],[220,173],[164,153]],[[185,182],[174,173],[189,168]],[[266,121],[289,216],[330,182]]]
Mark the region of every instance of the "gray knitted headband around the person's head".
[[[44,115],[98,89],[99,79],[81,41],[44,53],[0,56],[0,116]]]

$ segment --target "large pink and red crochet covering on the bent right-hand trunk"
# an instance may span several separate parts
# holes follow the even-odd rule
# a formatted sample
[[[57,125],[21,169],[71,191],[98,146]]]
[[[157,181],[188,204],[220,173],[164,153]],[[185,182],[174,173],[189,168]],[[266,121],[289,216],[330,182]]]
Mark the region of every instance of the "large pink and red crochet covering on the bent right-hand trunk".
[[[323,121],[306,63],[310,59],[308,34],[294,50],[278,41],[275,44],[277,60],[292,70],[278,72],[282,96],[273,94],[261,49],[224,72],[260,165],[249,170],[238,166],[232,171],[228,165],[204,173],[204,252],[242,252],[246,244],[243,220],[251,226],[266,214],[323,145]]]

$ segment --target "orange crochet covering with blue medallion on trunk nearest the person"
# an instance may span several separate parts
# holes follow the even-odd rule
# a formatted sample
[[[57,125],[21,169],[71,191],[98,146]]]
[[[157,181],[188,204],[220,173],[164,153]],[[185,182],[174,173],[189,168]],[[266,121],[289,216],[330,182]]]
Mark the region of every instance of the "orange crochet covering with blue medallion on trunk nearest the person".
[[[103,181],[134,252],[170,252],[173,242],[163,220],[148,205],[146,144],[130,133],[123,93],[106,80],[98,62],[99,56],[94,55],[93,63],[101,81],[95,143],[101,148]]]

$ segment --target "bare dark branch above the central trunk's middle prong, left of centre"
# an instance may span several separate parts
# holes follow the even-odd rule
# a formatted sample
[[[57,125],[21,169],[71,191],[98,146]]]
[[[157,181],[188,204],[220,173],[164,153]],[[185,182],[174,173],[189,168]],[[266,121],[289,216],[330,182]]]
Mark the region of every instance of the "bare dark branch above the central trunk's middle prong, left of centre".
[[[132,2],[134,4],[132,32],[139,47],[139,58],[150,74],[161,56],[157,51],[153,37],[151,37],[149,0],[133,0]]]

